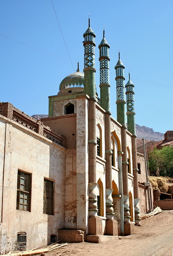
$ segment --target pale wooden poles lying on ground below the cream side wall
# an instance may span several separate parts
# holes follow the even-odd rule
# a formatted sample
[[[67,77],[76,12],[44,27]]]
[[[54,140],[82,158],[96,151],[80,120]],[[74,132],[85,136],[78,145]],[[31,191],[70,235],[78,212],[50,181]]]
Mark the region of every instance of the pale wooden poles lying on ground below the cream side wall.
[[[59,241],[58,241],[59,242]],[[55,242],[52,245],[48,245],[45,246],[43,248],[40,249],[31,249],[31,250],[27,250],[27,251],[15,251],[13,253],[11,253],[11,251],[8,254],[4,254],[1,256],[29,256],[29,255],[36,255],[36,254],[42,254],[42,253],[47,253],[48,251],[52,251],[55,250],[57,248],[63,247],[68,245],[67,243],[65,244],[57,244],[58,242]]]

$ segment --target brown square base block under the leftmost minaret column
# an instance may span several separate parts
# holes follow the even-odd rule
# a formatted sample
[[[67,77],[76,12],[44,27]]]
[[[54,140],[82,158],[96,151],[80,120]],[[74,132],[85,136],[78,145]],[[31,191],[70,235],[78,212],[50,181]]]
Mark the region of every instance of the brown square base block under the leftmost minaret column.
[[[89,235],[103,235],[102,219],[98,216],[89,217],[88,228]]]

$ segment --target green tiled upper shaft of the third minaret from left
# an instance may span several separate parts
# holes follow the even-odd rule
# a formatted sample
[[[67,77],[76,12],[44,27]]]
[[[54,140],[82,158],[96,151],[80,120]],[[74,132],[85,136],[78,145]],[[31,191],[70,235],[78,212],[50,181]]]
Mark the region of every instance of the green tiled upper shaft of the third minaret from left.
[[[125,108],[125,85],[124,85],[124,65],[120,60],[120,53],[119,53],[119,60],[117,65],[115,66],[116,70],[116,89],[117,89],[117,121],[122,124],[126,125],[126,108]]]

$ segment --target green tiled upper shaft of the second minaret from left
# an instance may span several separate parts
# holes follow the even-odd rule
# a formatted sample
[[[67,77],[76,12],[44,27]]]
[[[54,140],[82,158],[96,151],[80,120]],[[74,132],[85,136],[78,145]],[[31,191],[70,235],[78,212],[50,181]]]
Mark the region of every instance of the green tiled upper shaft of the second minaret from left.
[[[99,44],[100,49],[100,106],[110,112],[110,83],[109,83],[109,44],[104,38]]]

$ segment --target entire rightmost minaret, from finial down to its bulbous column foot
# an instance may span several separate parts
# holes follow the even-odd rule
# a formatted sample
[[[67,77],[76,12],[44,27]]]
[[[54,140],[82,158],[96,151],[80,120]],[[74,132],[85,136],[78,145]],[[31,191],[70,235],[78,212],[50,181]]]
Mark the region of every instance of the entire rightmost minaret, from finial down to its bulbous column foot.
[[[134,99],[134,84],[129,80],[126,84],[127,97],[127,130],[132,133],[132,160],[133,160],[133,175],[134,175],[134,206],[135,206],[135,223],[140,226],[140,209],[139,209],[139,188],[138,188],[138,164],[137,164],[137,149],[136,149],[136,127],[135,127],[135,99]]]

